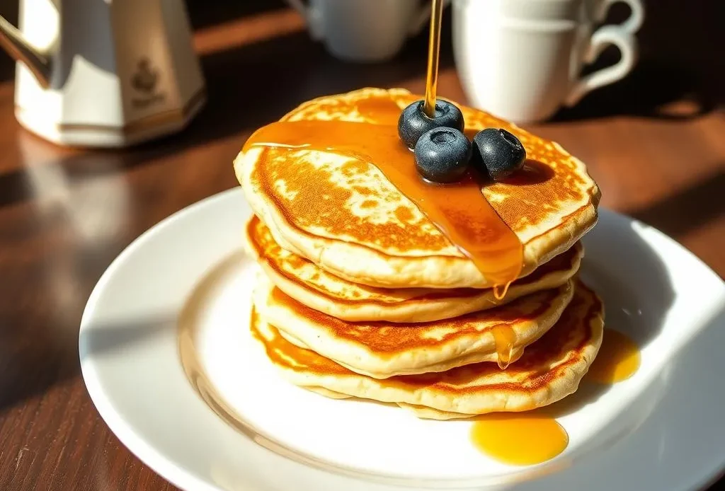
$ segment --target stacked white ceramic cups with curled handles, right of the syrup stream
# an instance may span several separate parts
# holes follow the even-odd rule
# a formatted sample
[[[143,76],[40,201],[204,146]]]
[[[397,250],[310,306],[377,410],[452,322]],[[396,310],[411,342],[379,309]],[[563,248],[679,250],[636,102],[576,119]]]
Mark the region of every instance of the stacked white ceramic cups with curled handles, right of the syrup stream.
[[[605,20],[611,4],[631,14]],[[626,76],[637,62],[634,33],[644,20],[640,0],[454,0],[453,50],[463,90],[473,106],[513,122],[547,119],[560,106]],[[581,77],[605,47],[621,59]]]

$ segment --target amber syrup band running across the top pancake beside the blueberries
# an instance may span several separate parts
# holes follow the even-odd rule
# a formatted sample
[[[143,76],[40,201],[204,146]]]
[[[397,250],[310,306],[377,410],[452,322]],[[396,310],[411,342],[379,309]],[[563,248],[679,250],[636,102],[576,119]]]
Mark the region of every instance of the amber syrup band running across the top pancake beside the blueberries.
[[[400,109],[392,98],[373,97],[351,109],[383,124],[274,122],[257,130],[244,150],[252,146],[306,148],[368,161],[413,201],[486,279],[508,288],[521,273],[521,242],[483,196],[479,180],[471,173],[450,185],[425,182],[415,169],[413,154],[398,138],[395,122]],[[264,164],[263,159],[259,164]]]

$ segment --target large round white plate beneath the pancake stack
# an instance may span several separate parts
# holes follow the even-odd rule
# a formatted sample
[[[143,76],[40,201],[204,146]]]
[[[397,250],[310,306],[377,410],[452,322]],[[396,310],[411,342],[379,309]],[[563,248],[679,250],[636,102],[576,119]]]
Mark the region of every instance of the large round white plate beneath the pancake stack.
[[[725,285],[657,230],[602,210],[585,238],[584,279],[604,298],[608,327],[639,342],[642,366],[603,393],[572,396],[579,403],[559,418],[567,450],[521,468],[477,453],[468,421],[423,421],[281,379],[248,330],[249,213],[229,190],[164,220],[113,262],[83,314],[91,398],[178,487],[691,490],[725,465]]]

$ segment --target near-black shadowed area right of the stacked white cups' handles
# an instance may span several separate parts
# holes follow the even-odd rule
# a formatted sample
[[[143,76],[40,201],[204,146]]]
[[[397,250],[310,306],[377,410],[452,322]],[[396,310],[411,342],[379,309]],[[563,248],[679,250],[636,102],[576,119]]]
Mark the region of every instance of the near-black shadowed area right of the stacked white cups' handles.
[[[725,102],[725,63],[721,50],[714,49],[723,40],[721,2],[642,0],[642,4],[645,21],[636,34],[639,61],[634,70],[618,83],[592,91],[575,107],[562,109],[556,121],[619,114],[676,121],[707,114]],[[621,23],[629,14],[626,2],[613,2],[606,23]],[[584,73],[619,58],[618,49],[609,46]]]

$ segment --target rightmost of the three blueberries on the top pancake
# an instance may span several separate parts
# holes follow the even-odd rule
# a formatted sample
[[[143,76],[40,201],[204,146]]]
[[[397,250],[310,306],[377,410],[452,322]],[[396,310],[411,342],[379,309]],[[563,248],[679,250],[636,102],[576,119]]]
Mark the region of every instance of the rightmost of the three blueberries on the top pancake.
[[[486,128],[473,137],[473,165],[494,181],[504,180],[523,167],[526,149],[513,134]]]

